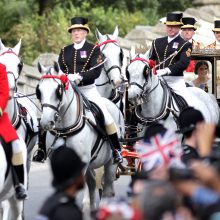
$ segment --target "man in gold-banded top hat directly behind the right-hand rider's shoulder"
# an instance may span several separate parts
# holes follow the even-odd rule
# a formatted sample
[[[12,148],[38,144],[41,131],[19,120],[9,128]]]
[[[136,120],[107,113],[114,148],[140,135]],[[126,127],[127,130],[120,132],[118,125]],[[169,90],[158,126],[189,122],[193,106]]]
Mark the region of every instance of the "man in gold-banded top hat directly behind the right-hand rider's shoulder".
[[[185,41],[188,41],[192,44],[192,49],[197,50],[201,48],[201,43],[195,41],[193,36],[196,31],[196,20],[193,17],[184,17],[182,18],[183,26],[181,27],[181,36]],[[194,72],[195,69],[195,60],[190,60],[189,66],[186,68],[185,72]]]

